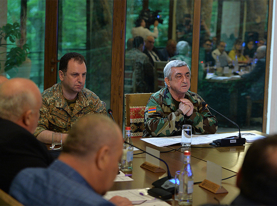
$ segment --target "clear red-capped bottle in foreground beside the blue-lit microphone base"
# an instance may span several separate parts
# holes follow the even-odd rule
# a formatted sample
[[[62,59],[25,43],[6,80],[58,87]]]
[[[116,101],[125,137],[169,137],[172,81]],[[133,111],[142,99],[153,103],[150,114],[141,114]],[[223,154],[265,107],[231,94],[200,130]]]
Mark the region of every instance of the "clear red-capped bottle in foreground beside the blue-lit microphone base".
[[[184,165],[180,171],[179,177],[179,205],[192,205],[193,193],[193,174],[191,169],[191,152],[184,151]]]

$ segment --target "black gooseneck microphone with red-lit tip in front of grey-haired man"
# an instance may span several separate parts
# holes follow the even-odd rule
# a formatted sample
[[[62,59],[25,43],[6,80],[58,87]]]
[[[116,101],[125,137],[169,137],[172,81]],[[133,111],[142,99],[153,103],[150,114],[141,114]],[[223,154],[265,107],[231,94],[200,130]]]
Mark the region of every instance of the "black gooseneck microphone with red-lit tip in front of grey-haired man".
[[[240,127],[239,127],[239,125],[237,125],[237,123],[233,122],[232,120],[230,120],[226,116],[220,114],[219,112],[217,112],[216,110],[211,108],[205,101],[202,102],[202,106],[207,107],[209,109],[212,109],[213,111],[215,111],[216,113],[218,113],[219,115],[221,115],[225,119],[227,119],[229,122],[232,122],[239,129],[239,136],[238,137],[237,136],[231,136],[231,137],[226,137],[224,139],[217,139],[217,140],[212,141],[216,146],[238,146],[238,145],[244,145],[245,144],[245,138],[241,138]]]

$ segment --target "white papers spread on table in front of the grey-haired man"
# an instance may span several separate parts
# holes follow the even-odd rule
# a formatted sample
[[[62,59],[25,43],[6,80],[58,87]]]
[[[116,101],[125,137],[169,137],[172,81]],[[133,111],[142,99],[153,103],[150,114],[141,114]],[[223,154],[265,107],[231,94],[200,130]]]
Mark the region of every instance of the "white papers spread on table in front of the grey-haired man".
[[[223,139],[231,136],[239,136],[238,132],[230,133],[220,133],[212,135],[192,135],[191,145],[200,145],[200,144],[209,144],[213,140]],[[241,132],[241,137],[246,139],[246,142],[254,142],[257,139],[265,138],[265,136],[255,134],[253,132]],[[141,138],[142,141],[153,144],[158,147],[169,146],[181,143],[181,136],[172,137],[150,137],[150,138]]]

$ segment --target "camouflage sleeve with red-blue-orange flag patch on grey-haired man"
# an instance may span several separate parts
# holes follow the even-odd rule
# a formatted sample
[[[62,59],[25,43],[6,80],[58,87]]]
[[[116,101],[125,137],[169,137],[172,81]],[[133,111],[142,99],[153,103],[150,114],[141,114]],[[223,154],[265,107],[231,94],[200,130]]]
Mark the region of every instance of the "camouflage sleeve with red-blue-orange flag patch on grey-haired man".
[[[151,108],[156,108],[156,112],[149,113],[148,109]],[[159,104],[157,99],[153,96],[149,98],[144,112],[145,129],[148,132],[148,136],[171,136],[174,132],[179,130],[180,123],[183,121],[184,115],[181,109],[177,109],[175,112],[165,115],[162,110],[162,104]]]

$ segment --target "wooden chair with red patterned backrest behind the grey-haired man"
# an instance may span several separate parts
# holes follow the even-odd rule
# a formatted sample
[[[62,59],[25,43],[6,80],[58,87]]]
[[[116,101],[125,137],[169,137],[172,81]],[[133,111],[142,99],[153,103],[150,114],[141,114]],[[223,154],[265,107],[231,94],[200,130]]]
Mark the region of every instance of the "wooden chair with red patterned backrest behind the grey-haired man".
[[[151,94],[125,94],[125,126],[131,127],[131,137],[142,137],[144,111]]]

